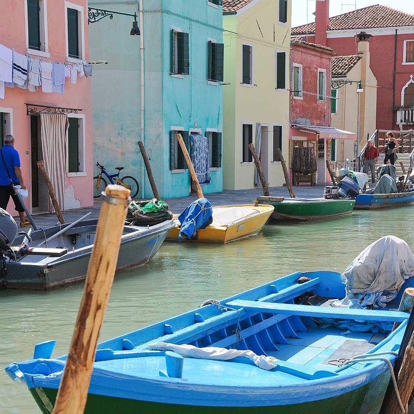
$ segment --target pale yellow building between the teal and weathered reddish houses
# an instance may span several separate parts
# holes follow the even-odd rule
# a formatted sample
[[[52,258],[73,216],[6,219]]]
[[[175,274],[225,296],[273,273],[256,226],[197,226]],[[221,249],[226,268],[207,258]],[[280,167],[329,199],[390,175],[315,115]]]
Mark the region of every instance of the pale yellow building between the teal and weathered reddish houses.
[[[291,0],[223,0],[223,188],[260,186],[249,143],[270,186],[288,159]]]

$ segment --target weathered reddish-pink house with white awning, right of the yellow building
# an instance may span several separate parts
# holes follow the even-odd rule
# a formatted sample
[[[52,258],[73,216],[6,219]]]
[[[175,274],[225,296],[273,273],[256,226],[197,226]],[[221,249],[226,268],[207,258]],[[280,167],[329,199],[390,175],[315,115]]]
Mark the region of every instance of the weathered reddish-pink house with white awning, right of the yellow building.
[[[290,159],[294,147],[313,147],[317,159],[316,182],[326,183],[326,160],[332,160],[338,139],[355,134],[330,124],[331,48],[296,38],[291,41]],[[291,161],[291,160],[290,160]],[[292,165],[292,164],[291,164]]]

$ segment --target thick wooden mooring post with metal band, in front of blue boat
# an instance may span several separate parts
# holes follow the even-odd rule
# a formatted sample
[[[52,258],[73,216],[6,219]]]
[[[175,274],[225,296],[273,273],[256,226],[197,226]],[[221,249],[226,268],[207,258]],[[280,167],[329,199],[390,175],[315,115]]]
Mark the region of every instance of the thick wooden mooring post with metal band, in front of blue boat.
[[[54,414],[84,412],[100,327],[114,279],[130,190],[109,185],[102,195],[96,237],[89,261]]]

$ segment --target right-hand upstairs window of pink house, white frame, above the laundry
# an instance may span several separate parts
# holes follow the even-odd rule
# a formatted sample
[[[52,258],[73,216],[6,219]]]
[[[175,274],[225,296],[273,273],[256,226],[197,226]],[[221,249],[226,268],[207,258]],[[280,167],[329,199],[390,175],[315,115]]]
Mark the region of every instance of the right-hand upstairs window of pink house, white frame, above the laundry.
[[[66,55],[69,62],[85,59],[84,9],[65,2],[66,11]]]

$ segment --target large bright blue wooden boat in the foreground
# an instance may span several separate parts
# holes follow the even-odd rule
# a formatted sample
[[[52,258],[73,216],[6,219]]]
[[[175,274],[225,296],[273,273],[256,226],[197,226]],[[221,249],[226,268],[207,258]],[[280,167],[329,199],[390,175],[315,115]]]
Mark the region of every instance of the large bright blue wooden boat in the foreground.
[[[395,362],[408,319],[396,309],[411,279],[384,310],[363,310],[319,305],[344,297],[339,273],[296,272],[103,342],[85,412],[377,413],[390,368],[376,354]],[[355,319],[357,325],[400,325],[384,333],[344,334],[342,324]],[[338,323],[322,327],[327,320]],[[177,344],[196,352],[235,349],[244,356],[215,360],[166,351]],[[54,345],[38,344],[33,359],[6,368],[28,386],[44,413],[53,411],[65,366],[65,355],[51,358]],[[253,353],[263,355],[258,365],[273,368],[256,366]],[[351,360],[361,354],[370,359]]]

